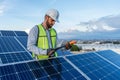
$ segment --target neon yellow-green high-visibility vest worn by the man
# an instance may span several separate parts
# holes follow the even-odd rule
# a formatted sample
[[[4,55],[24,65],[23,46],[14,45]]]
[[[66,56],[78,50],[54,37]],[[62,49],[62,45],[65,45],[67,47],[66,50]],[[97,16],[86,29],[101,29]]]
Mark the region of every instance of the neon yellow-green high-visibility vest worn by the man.
[[[49,49],[48,37],[47,37],[44,27],[41,24],[39,24],[38,29],[39,29],[39,31],[38,31],[37,46],[43,50]],[[56,36],[57,36],[57,33],[56,33],[55,29],[51,28],[50,29],[50,38],[51,38],[52,48],[55,48],[55,46],[56,46]],[[43,54],[35,55],[34,53],[32,53],[32,57],[37,58],[37,59],[46,59],[49,56],[47,54],[46,55],[43,55]],[[55,57],[57,57],[56,52],[55,52]]]

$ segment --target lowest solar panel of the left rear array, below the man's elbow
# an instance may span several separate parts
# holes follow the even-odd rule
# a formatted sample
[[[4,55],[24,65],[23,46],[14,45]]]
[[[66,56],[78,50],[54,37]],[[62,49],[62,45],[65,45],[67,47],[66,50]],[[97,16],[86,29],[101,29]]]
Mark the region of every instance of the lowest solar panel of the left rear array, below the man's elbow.
[[[14,52],[14,53],[4,53],[0,54],[1,63],[14,63],[26,60],[32,60],[32,56],[28,52]]]

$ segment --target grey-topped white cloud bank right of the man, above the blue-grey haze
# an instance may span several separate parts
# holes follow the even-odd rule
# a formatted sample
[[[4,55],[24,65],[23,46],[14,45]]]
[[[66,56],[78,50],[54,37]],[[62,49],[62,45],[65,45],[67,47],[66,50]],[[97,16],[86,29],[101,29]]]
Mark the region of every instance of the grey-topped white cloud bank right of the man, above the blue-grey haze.
[[[119,29],[120,15],[105,16],[97,20],[90,20],[88,22],[81,22],[72,27],[67,27],[61,32],[68,32],[70,30],[78,30],[80,32],[97,32],[97,31],[114,31]]]

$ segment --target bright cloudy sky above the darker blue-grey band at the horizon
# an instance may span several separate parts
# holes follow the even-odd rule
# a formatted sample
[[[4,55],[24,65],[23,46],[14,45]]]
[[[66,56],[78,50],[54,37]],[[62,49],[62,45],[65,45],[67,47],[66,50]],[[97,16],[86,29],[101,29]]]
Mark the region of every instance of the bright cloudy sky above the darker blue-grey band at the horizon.
[[[0,30],[28,32],[42,23],[48,9],[54,8],[60,13],[60,22],[54,25],[58,33],[68,36],[68,31],[74,34],[76,30],[112,31],[120,25],[119,3],[120,0],[0,0]]]

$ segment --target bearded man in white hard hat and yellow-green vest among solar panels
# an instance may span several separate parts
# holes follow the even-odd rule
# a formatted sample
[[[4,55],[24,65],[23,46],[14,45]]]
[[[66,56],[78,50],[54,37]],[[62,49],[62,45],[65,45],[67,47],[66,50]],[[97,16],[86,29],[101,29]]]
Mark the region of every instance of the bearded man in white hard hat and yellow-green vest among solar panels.
[[[57,32],[53,27],[55,22],[59,22],[59,12],[50,9],[44,16],[41,24],[35,25],[29,32],[27,49],[32,52],[32,57],[36,59],[46,59],[57,57],[54,48],[57,46]],[[69,43],[65,44],[66,49],[70,48]]]

